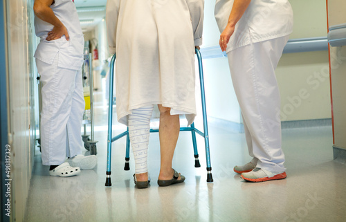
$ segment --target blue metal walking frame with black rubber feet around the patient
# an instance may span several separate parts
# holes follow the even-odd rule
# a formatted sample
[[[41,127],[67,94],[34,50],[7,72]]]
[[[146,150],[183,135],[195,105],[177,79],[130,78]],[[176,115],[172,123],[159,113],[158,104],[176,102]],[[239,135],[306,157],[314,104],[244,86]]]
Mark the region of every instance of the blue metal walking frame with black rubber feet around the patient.
[[[204,133],[194,128],[194,123],[190,127],[181,127],[180,131],[191,131],[192,144],[194,147],[194,167],[201,167],[199,163],[199,154],[197,151],[196,133],[204,138],[206,145],[206,162],[207,162],[207,182],[213,182],[212,167],[210,164],[210,150],[209,150],[209,135],[208,135],[208,121],[206,111],[206,95],[204,93],[204,79],[203,79],[203,64],[201,52],[196,48],[196,55],[199,64],[199,82],[201,86],[201,100],[202,100],[202,113],[203,113],[203,130]],[[125,170],[129,170],[129,129],[118,134],[118,136],[111,137],[112,135],[112,121],[113,121],[113,77],[114,77],[114,62],[116,61],[116,54],[111,58],[110,71],[109,71],[109,107],[108,107],[108,136],[107,136],[107,172],[106,172],[106,186],[111,186],[111,143],[126,136],[126,154],[125,154]],[[150,129],[150,133],[157,133],[158,129]]]

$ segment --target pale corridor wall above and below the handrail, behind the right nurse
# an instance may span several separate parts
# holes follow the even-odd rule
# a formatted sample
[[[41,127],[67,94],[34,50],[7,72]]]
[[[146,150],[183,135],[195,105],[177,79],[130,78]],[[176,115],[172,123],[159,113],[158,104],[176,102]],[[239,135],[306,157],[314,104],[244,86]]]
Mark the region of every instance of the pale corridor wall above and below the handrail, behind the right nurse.
[[[293,33],[290,39],[327,37],[324,0],[289,0],[289,2],[294,14]],[[313,8],[307,11],[306,8],[311,5]],[[214,6],[215,0],[206,1],[202,48],[217,46],[219,43],[220,33],[214,18]],[[239,104],[233,91],[227,58],[204,59],[203,64],[210,121],[228,122],[230,126],[241,124]],[[301,120],[330,122],[328,67],[327,50],[282,55],[276,74],[282,98],[283,122]]]

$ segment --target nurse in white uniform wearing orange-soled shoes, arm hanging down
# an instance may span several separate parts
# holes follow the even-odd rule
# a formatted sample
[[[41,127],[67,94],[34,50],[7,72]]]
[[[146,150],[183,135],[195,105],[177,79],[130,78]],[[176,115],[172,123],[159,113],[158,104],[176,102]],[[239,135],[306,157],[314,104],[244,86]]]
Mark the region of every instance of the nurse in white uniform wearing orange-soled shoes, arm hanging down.
[[[275,68],[293,29],[291,5],[288,0],[217,0],[215,18],[253,157],[234,170],[246,181],[286,178]]]

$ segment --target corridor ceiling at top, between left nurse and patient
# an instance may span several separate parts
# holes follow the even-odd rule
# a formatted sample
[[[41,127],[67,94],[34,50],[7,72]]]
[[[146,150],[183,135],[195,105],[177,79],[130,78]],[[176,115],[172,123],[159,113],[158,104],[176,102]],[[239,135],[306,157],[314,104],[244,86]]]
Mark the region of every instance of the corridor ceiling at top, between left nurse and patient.
[[[75,0],[83,32],[93,28],[106,16],[107,0]]]

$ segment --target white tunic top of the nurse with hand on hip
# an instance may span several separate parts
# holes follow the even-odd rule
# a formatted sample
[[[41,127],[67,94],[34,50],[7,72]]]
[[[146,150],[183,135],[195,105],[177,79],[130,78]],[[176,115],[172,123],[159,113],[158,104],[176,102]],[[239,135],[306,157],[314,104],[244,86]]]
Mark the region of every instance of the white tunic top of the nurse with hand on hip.
[[[55,0],[51,9],[66,27],[70,40],[67,41],[66,37],[62,36],[60,39],[47,41],[46,37],[54,26],[35,16],[35,32],[41,41],[34,57],[53,64],[55,56],[59,54],[58,66],[79,70],[83,64],[84,37],[75,3],[72,0]]]

